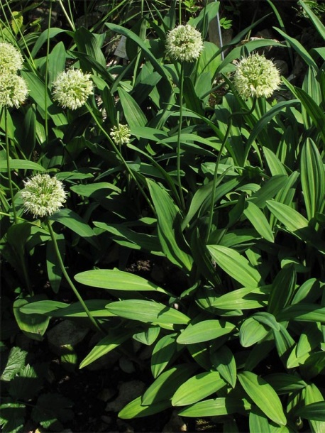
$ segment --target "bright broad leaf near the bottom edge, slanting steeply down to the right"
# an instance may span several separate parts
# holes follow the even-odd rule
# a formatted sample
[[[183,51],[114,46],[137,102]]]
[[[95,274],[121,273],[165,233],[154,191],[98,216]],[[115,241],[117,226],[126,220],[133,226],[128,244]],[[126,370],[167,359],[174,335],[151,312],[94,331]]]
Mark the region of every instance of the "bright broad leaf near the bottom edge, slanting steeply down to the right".
[[[250,371],[238,373],[238,380],[255,405],[270,420],[280,425],[287,424],[280,398],[278,398],[277,393],[268,382]]]

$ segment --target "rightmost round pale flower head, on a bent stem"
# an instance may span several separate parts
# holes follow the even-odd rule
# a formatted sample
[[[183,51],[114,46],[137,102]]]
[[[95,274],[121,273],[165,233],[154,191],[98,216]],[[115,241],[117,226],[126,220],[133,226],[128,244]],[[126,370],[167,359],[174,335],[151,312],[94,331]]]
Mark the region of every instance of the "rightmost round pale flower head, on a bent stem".
[[[280,73],[264,55],[250,54],[238,63],[233,84],[243,99],[268,98],[279,88]]]

